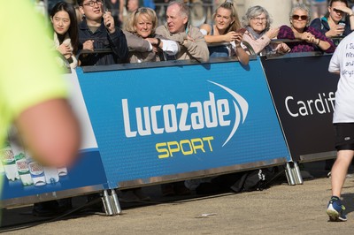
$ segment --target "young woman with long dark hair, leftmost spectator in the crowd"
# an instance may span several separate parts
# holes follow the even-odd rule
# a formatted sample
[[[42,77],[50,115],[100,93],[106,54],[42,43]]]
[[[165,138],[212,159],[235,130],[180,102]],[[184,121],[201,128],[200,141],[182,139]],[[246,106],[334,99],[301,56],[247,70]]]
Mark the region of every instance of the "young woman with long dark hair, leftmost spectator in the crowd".
[[[50,21],[54,30],[54,47],[69,62],[70,67],[76,68],[78,61],[75,57],[78,51],[79,34],[76,11],[72,4],[59,2],[50,12]]]

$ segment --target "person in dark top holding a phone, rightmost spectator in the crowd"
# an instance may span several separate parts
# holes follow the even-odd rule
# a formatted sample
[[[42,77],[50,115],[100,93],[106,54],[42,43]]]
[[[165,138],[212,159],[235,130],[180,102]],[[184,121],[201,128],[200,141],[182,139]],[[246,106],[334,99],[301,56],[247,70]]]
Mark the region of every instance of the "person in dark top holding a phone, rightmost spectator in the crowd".
[[[346,36],[354,30],[354,12],[347,0],[331,0],[326,16],[313,19],[310,26],[327,37]]]

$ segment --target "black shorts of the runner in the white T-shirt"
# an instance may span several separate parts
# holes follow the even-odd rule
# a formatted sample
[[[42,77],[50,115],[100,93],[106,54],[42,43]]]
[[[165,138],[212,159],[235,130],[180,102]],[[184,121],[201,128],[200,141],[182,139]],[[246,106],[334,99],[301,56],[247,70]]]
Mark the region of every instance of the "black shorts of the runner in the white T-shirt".
[[[335,123],[335,148],[354,150],[354,123]]]

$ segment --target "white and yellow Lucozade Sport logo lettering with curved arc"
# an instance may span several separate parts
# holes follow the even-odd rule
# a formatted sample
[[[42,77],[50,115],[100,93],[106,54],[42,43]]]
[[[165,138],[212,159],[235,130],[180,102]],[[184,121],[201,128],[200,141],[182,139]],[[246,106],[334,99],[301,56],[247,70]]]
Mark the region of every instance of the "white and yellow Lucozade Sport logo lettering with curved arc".
[[[229,133],[227,140],[222,146],[225,146],[234,136],[237,128],[247,117],[249,105],[248,102],[238,95],[232,89],[209,81],[218,86],[233,97],[231,105],[229,100],[215,99],[214,93],[209,91],[209,99],[205,101],[179,102],[169,104],[158,104],[153,106],[135,107],[135,118],[130,118],[127,99],[122,99],[122,110],[124,119],[124,130],[127,138],[137,136],[149,136],[152,134],[190,132],[204,128],[215,128],[218,126],[229,126],[233,128]],[[234,107],[235,119],[232,117],[230,107]],[[134,109],[134,108],[133,108]],[[135,119],[136,123],[132,123]],[[205,152],[205,148],[212,151],[212,136],[195,138],[191,140],[162,142],[156,145],[160,158],[172,156],[173,152],[181,152],[183,155],[196,154],[197,149]],[[205,148],[204,148],[205,147]]]

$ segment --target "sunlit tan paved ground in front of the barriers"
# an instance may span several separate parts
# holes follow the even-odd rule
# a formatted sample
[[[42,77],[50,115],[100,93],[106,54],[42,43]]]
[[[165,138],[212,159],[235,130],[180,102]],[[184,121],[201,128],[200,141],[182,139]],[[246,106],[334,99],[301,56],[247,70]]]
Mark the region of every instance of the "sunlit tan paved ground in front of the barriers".
[[[304,185],[286,182],[264,191],[180,197],[165,201],[158,186],[144,188],[153,201],[122,204],[121,216],[76,213],[40,221],[31,208],[4,210],[1,231],[8,234],[353,234],[354,178],[347,178],[343,201],[348,221],[328,222],[330,179],[319,164],[307,165],[315,176]],[[80,202],[80,198],[75,199]]]

